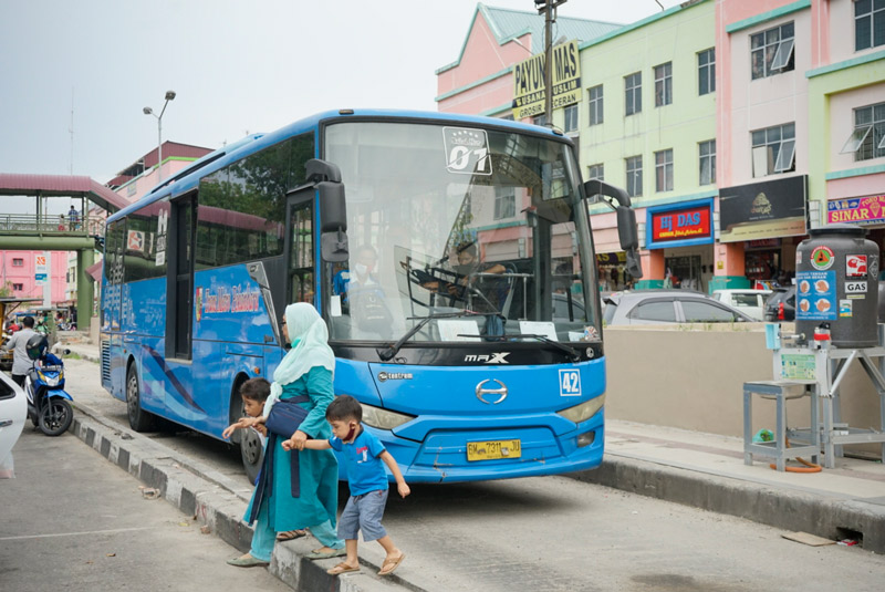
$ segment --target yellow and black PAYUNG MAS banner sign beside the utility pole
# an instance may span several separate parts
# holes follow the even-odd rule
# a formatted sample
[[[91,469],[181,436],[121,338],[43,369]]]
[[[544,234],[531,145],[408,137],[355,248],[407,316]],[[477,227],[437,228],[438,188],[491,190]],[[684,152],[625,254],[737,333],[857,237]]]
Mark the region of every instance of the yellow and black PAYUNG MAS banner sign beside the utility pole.
[[[553,48],[553,108],[573,105],[581,100],[581,60],[577,41]],[[538,53],[513,64],[513,120],[533,117],[544,112],[544,54]]]

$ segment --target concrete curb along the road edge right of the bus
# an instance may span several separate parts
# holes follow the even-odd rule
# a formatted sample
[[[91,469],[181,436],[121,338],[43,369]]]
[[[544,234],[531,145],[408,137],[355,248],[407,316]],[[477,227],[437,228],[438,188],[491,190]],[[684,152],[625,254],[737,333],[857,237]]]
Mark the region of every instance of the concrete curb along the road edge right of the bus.
[[[831,540],[860,536],[865,550],[885,553],[885,505],[775,489],[612,453],[598,469],[569,477]]]

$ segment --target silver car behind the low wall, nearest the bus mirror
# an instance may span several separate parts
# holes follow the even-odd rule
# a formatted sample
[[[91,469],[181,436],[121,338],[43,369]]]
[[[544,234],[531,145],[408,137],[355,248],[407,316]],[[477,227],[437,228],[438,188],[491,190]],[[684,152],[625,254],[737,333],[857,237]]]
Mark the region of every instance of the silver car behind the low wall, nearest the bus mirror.
[[[638,290],[605,298],[606,325],[752,323],[752,316],[693,290]]]

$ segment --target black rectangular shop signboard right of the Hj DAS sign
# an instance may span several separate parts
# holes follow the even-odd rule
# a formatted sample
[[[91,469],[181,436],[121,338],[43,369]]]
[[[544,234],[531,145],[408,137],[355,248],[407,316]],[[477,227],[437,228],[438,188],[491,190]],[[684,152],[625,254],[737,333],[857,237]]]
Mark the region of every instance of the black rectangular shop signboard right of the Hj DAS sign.
[[[719,189],[719,240],[737,242],[808,232],[808,175]]]

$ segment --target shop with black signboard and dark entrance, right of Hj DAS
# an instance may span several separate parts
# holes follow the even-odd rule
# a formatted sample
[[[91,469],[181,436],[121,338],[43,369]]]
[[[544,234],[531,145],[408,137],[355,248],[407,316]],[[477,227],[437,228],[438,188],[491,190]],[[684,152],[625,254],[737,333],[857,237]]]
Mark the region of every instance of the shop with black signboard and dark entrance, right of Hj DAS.
[[[808,233],[808,176],[721,188],[719,228],[719,242],[743,243],[738,252],[750,287],[788,283]]]

